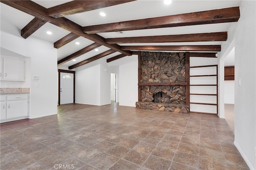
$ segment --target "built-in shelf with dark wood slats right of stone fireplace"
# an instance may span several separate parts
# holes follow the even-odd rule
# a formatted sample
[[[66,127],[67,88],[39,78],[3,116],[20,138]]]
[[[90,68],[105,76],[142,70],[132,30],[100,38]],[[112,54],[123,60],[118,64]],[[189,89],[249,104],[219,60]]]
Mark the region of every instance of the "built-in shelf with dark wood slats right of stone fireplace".
[[[190,113],[218,114],[218,65],[213,59],[216,54],[189,55]]]

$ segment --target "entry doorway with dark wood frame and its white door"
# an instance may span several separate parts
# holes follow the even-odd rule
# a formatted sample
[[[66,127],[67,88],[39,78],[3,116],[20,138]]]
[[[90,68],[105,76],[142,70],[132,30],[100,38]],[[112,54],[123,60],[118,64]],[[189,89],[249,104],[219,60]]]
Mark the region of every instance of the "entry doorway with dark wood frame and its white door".
[[[75,71],[58,70],[58,104],[75,103]]]

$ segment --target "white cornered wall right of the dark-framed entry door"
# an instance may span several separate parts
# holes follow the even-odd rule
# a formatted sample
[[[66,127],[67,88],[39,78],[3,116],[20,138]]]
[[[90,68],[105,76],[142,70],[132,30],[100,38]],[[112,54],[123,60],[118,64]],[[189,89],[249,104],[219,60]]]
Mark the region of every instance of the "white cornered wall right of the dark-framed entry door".
[[[110,71],[106,59],[98,59],[75,68],[75,102],[102,106],[110,104]]]

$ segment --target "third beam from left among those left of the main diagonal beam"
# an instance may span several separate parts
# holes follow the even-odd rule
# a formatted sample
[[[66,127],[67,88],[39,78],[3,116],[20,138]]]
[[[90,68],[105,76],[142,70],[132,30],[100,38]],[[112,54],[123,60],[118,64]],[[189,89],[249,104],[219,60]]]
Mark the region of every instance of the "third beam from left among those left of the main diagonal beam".
[[[98,43],[93,43],[83,49],[80,49],[79,51],[77,51],[76,53],[73,53],[72,55],[69,55],[68,57],[65,57],[64,59],[61,59],[60,61],[58,61],[58,66],[60,66],[61,64],[67,63],[70,60],[75,59],[76,57],[79,57],[80,55],[83,55],[89,51],[92,51],[93,49],[96,49],[98,47],[100,47],[101,45]]]

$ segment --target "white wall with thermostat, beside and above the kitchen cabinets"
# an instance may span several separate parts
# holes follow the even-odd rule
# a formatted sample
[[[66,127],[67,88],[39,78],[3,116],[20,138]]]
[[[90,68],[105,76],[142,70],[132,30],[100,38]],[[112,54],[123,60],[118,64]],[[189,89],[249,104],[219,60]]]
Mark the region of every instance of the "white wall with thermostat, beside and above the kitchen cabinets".
[[[57,49],[53,44],[31,36],[24,39],[19,29],[1,18],[1,47],[30,58],[30,76],[27,78],[30,82],[29,118],[57,114]],[[40,79],[34,81],[32,76]],[[35,87],[36,83],[38,87]]]

